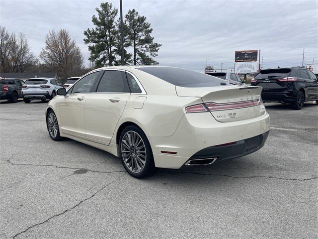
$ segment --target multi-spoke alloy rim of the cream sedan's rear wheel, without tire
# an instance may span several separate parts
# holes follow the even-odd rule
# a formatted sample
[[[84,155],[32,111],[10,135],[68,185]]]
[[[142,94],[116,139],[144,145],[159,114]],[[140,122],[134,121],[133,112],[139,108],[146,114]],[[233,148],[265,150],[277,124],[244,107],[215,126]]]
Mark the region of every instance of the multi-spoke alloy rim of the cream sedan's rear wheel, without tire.
[[[127,131],[122,138],[121,153],[126,166],[134,173],[143,170],[146,164],[146,147],[141,136],[135,131]]]

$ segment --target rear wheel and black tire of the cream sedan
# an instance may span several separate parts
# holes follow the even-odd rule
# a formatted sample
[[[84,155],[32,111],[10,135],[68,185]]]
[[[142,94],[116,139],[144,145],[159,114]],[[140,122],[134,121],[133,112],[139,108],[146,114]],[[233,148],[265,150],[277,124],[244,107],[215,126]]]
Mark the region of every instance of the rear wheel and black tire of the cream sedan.
[[[120,159],[126,171],[143,178],[155,170],[153,152],[145,133],[137,126],[124,128],[119,138]]]

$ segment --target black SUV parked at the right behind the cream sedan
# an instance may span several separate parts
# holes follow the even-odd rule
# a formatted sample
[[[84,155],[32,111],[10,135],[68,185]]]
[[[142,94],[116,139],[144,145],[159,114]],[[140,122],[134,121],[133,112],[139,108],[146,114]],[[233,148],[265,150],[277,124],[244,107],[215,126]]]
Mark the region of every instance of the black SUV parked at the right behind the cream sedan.
[[[300,110],[306,101],[318,105],[318,77],[303,67],[261,70],[251,86],[261,86],[263,102],[290,103]]]

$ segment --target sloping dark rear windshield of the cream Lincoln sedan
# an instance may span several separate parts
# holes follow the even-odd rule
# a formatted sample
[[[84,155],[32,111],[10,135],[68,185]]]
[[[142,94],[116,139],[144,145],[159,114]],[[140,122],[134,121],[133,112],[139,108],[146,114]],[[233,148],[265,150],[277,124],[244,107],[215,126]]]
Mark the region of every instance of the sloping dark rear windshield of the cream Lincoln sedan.
[[[141,67],[138,70],[149,73],[153,76],[169,82],[175,86],[182,87],[211,87],[228,85],[226,81],[209,76],[204,73],[190,71],[174,67]]]

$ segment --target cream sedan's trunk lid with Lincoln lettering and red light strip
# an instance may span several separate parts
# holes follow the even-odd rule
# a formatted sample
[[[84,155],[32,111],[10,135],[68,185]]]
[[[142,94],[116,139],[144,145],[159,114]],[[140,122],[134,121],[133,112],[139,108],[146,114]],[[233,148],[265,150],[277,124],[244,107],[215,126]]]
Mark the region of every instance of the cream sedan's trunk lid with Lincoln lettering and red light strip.
[[[211,115],[220,122],[252,119],[265,114],[261,87],[221,86],[186,88],[176,86],[178,96],[200,97]]]

